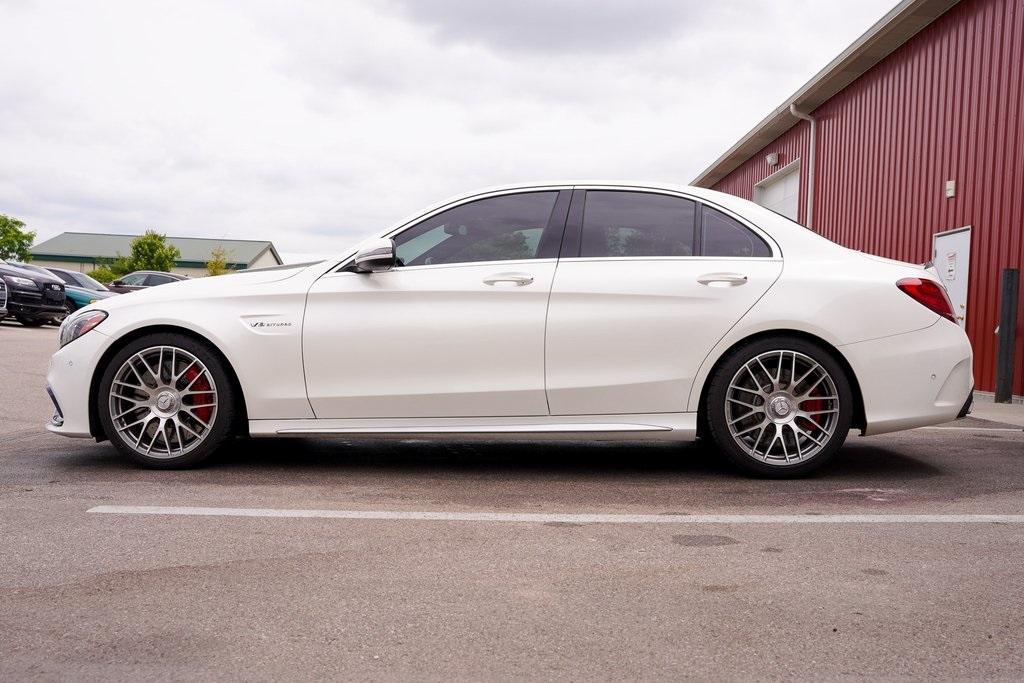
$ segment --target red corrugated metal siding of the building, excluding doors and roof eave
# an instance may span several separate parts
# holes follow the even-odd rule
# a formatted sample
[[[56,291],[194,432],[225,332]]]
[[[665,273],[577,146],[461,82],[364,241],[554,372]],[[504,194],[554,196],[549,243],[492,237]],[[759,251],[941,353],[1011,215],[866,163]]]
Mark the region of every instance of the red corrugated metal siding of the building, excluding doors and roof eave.
[[[973,226],[968,335],[986,391],[995,381],[1001,269],[1024,269],[1022,78],[1024,0],[964,0],[814,112],[816,231],[921,263],[932,257],[933,233]],[[752,199],[755,183],[807,159],[808,131],[801,122],[715,188]],[[765,163],[772,152],[776,168]],[[956,181],[953,199],[944,197],[946,180]],[[800,191],[806,222],[806,177]],[[1024,328],[1024,310],[1018,317]],[[1020,328],[1014,393],[1024,394]]]

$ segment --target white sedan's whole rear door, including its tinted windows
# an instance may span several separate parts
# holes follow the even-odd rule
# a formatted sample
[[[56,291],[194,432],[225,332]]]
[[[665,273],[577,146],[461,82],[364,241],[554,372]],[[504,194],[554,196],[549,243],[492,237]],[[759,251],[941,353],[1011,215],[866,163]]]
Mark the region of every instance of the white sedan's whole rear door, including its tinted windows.
[[[781,272],[773,249],[693,199],[578,189],[548,311],[551,414],[685,412],[701,361]]]

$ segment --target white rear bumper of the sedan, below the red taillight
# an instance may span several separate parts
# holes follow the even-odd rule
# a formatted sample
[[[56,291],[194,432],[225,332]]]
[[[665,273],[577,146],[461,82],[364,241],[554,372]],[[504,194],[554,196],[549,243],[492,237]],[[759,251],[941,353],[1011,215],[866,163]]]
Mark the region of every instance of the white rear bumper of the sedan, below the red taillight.
[[[969,404],[974,388],[971,342],[948,321],[840,351],[860,385],[865,435],[950,422]]]

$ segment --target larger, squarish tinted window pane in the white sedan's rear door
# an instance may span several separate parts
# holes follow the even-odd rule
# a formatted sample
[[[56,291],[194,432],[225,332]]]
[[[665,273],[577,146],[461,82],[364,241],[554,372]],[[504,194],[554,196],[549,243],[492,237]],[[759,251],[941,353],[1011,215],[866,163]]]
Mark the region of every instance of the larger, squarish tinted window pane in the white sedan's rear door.
[[[678,197],[588,190],[580,255],[692,256],[694,215]]]

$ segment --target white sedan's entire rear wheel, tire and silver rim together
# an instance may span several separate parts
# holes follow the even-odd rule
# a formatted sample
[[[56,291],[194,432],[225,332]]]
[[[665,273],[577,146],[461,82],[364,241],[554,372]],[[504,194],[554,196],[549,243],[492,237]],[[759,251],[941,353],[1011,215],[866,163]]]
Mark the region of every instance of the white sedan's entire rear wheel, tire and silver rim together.
[[[732,351],[708,391],[707,425],[719,451],[745,472],[807,474],[839,452],[853,395],[827,351],[795,337],[761,339]]]

